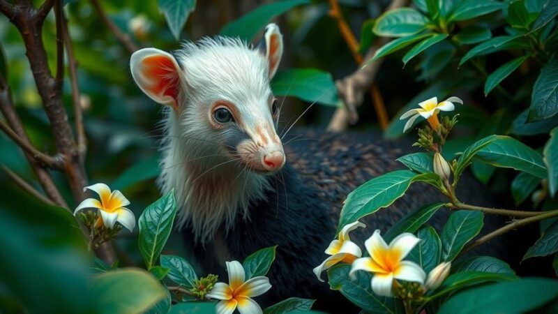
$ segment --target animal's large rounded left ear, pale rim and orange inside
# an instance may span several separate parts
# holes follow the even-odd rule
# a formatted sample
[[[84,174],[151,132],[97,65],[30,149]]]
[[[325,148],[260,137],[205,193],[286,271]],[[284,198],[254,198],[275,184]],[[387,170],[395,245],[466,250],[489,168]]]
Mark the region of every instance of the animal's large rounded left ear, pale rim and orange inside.
[[[137,86],[157,103],[179,107],[181,69],[171,54],[144,48],[132,54],[130,69]]]

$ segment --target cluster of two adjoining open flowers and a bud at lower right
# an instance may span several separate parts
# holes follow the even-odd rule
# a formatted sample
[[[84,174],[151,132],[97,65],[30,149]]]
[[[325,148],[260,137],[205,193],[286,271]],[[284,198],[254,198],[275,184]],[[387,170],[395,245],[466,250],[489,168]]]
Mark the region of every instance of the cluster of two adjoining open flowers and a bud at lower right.
[[[333,267],[338,262],[352,264],[349,276],[354,278],[356,271],[369,271],[374,274],[370,285],[372,291],[383,297],[393,297],[394,288],[398,281],[417,283],[420,294],[427,290],[434,290],[444,282],[449,274],[451,264],[444,262],[430,271],[428,276],[415,262],[404,260],[421,239],[411,233],[403,233],[395,237],[390,244],[376,230],[372,237],[364,242],[368,257],[361,257],[361,249],[349,239],[349,231],[356,227],[365,227],[363,223],[355,222],[343,227],[339,238],[331,241],[325,253],[331,255],[314,269],[319,281],[322,281],[322,271]],[[395,291],[397,292],[397,291]]]

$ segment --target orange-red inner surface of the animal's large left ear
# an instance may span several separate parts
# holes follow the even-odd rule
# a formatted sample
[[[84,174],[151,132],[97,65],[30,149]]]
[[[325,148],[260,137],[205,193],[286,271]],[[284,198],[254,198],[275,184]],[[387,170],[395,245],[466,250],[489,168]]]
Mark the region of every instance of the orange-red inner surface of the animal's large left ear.
[[[178,104],[179,76],[176,73],[174,62],[165,56],[149,56],[142,60],[144,76],[151,81],[151,86],[146,87],[152,94],[169,96]]]

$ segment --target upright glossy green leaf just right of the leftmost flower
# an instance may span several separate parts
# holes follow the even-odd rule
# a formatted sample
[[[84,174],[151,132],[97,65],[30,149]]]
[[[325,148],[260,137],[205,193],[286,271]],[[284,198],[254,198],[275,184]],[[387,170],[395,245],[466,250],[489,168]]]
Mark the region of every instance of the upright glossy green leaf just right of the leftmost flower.
[[[149,205],[140,216],[138,220],[140,252],[147,269],[155,265],[155,261],[163,251],[172,230],[174,216],[176,216],[174,191]]]

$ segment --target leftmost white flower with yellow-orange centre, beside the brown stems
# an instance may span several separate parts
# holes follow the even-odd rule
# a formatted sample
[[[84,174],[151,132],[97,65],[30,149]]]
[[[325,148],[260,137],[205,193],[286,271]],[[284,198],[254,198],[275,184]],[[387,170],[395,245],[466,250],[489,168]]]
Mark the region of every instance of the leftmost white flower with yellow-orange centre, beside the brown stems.
[[[130,201],[122,195],[119,190],[113,190],[111,192],[110,188],[106,184],[93,184],[92,186],[86,186],[83,190],[92,190],[97,193],[100,197],[100,202],[94,198],[88,198],[84,200],[74,211],[74,216],[77,215],[79,211],[87,208],[95,208],[99,210],[100,216],[96,221],[96,227],[105,227],[112,229],[115,223],[121,223],[126,229],[132,231],[135,227],[135,217],[130,209],[126,206],[130,204]]]

